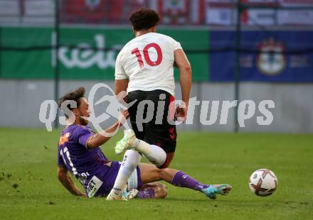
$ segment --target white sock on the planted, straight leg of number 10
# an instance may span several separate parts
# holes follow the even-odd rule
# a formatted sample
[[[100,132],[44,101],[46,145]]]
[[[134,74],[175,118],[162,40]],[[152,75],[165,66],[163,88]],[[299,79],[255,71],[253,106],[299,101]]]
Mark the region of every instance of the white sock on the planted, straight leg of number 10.
[[[132,172],[134,172],[141,159],[142,155],[136,150],[126,150],[113,186],[115,194],[122,195],[127,180],[132,175]]]

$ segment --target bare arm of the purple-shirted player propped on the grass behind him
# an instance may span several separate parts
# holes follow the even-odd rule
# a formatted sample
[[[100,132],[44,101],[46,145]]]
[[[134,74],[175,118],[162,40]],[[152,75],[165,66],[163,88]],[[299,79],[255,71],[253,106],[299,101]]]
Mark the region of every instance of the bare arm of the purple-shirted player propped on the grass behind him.
[[[71,194],[75,194],[76,196],[86,197],[87,195],[83,192],[80,192],[80,189],[74,185],[73,180],[68,175],[68,169],[66,167],[58,166],[58,179],[62,183],[63,187],[68,189]]]

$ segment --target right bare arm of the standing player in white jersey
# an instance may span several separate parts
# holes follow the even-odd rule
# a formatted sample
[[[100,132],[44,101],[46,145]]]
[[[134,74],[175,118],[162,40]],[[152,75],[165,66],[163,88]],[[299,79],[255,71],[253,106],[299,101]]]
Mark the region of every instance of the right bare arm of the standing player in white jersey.
[[[177,117],[186,119],[189,95],[191,90],[191,65],[184,53],[184,50],[178,49],[174,52],[175,65],[179,68],[179,83],[181,84],[181,98],[185,102],[186,108],[176,109]]]

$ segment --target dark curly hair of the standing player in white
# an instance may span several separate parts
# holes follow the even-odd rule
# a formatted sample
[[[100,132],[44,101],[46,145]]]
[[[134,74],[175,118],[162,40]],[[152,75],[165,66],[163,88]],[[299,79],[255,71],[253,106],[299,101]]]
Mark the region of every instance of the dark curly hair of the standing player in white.
[[[139,9],[129,16],[135,31],[147,30],[156,26],[160,21],[159,14],[152,9]]]

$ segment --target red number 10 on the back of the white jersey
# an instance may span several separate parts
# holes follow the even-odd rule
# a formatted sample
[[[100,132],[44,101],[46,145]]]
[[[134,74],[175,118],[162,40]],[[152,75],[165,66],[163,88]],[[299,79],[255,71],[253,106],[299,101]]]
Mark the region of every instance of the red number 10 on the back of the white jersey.
[[[152,61],[148,50],[150,48],[154,48],[155,50],[157,50],[157,60]],[[162,50],[160,48],[159,45],[157,45],[157,43],[149,43],[144,47],[144,50],[142,50],[144,52],[144,60],[147,62],[147,65],[155,67],[157,65],[159,65],[162,62],[163,59],[163,55],[162,55]],[[134,50],[132,50],[132,54],[137,56],[137,61],[139,63],[140,68],[144,68],[144,62],[142,60],[142,54],[140,53],[138,48],[134,48]]]

